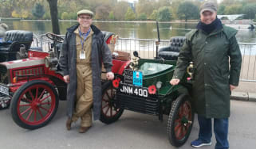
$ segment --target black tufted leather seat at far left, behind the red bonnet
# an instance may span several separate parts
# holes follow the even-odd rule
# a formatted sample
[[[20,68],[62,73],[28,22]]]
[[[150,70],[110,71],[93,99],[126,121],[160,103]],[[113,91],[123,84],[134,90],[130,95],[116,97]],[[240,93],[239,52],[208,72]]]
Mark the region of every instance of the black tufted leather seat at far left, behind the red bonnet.
[[[19,52],[22,44],[28,50],[33,41],[33,32],[22,30],[10,30],[6,32],[4,39],[6,42],[0,44],[0,62],[16,59],[16,53]]]

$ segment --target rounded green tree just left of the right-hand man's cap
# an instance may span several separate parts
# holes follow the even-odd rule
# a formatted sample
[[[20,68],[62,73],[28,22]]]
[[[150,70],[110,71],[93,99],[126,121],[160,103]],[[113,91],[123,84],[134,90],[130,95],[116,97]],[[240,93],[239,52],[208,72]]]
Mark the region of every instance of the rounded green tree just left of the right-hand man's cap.
[[[199,8],[192,2],[183,2],[178,7],[177,16],[180,19],[197,19],[199,18]]]

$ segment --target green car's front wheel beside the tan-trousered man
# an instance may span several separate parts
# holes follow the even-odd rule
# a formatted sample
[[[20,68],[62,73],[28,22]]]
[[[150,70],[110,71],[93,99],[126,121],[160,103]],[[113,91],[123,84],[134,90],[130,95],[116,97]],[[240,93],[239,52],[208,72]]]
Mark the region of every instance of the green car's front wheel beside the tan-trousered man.
[[[120,103],[115,100],[116,89],[113,88],[112,82],[108,82],[107,87],[102,92],[100,121],[104,124],[111,124],[118,120],[124,109]]]

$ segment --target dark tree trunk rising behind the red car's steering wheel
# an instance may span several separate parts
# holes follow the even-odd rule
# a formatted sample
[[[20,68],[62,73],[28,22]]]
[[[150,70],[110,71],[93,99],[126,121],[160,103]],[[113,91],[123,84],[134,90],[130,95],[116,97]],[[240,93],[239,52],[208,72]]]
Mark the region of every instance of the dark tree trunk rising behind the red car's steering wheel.
[[[51,14],[51,21],[53,26],[53,33],[60,34],[60,25],[57,18],[57,0],[47,0],[49,2],[49,10]]]

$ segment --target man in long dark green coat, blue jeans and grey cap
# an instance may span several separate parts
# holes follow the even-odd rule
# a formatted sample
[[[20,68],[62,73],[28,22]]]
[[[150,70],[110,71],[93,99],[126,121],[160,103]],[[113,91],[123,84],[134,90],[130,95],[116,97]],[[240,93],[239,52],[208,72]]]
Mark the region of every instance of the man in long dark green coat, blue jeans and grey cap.
[[[242,56],[235,38],[237,31],[222,25],[216,16],[214,2],[201,6],[200,21],[186,35],[170,82],[177,85],[189,62],[194,63],[192,104],[198,113],[199,138],[191,142],[192,147],[211,145],[213,119],[215,149],[229,148],[230,93],[238,86]]]

